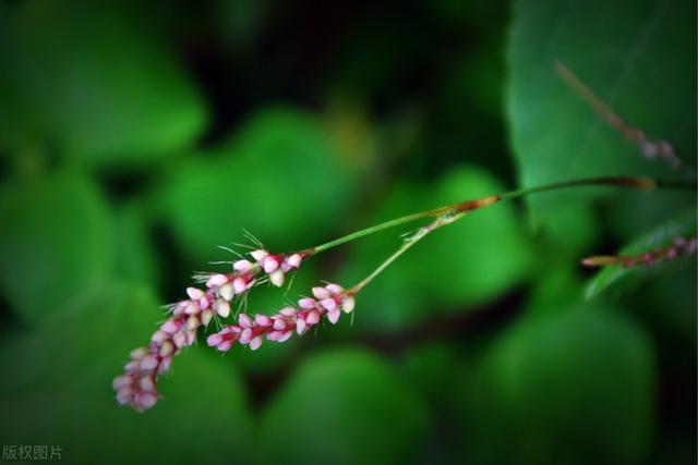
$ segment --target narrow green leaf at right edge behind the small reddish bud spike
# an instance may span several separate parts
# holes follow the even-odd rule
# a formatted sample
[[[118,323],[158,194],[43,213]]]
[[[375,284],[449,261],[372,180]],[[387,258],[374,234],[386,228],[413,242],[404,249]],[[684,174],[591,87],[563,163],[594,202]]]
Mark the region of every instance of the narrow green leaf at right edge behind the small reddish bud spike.
[[[652,231],[633,241],[617,254],[633,256],[651,252],[655,248],[665,248],[671,246],[674,240],[679,236],[693,237],[696,235],[697,224],[696,209],[691,207],[689,211],[674,217],[670,221],[664,222],[662,225],[654,228]],[[613,254],[615,255],[616,253],[614,252]],[[662,261],[651,267],[604,267],[589,281],[585,295],[587,298],[594,298],[611,287],[613,287],[616,294],[628,291],[637,287],[642,281],[650,279],[652,276],[665,272],[667,268],[684,266],[688,259],[695,261],[695,257],[691,256],[689,258],[679,257],[674,261]]]

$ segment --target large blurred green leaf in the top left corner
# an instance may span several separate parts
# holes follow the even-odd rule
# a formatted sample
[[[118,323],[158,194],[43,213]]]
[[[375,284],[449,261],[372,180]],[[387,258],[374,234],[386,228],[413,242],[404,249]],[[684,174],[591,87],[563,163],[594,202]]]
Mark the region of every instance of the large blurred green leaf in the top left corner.
[[[38,136],[95,163],[190,145],[206,124],[202,97],[132,7],[72,0],[7,8],[0,96],[10,99],[0,120],[22,126],[15,129],[27,140]],[[2,135],[22,143],[17,134]]]

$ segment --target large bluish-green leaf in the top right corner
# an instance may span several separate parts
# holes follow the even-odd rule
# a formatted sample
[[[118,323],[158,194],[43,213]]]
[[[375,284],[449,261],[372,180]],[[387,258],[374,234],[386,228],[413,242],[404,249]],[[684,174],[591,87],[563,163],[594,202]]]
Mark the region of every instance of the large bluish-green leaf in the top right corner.
[[[695,167],[694,16],[691,2],[517,2],[509,39],[508,117],[520,183],[532,186],[591,175],[676,175],[664,162],[642,158],[612,130],[557,75],[555,60],[630,124],[650,137],[669,139],[684,163]],[[561,211],[581,208],[595,193],[578,189],[532,196],[528,201],[540,223]],[[636,205],[637,196],[625,207]],[[654,209],[659,215],[682,207],[661,205]]]

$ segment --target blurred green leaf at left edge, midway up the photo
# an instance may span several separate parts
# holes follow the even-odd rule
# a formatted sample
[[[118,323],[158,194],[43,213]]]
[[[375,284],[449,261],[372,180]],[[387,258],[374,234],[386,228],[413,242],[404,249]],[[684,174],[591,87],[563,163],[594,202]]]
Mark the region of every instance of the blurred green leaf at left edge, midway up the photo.
[[[109,277],[110,211],[85,175],[61,171],[8,183],[0,218],[0,289],[21,319],[43,319]]]

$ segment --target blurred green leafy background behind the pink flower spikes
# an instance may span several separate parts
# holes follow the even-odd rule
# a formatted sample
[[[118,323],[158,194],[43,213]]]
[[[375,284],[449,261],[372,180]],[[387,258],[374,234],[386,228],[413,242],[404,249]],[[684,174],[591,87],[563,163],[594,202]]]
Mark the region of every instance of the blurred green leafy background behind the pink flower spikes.
[[[642,159],[554,60],[684,168]],[[576,189],[430,236],[353,319],[111,379],[246,229],[272,250],[588,175],[695,179],[694,1],[0,3],[0,445],[86,464],[693,464],[694,191]],[[388,231],[309,261],[350,285]],[[258,289],[250,310],[282,292]],[[10,461],[3,455],[3,460]]]

